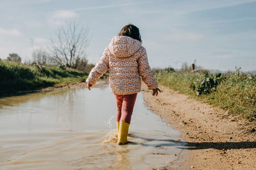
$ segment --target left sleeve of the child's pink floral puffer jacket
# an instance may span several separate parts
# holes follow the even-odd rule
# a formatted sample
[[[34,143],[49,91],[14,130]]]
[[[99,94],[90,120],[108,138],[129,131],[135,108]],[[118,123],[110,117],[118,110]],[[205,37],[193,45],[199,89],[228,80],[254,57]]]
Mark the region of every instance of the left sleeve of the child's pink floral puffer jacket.
[[[106,73],[109,69],[109,50],[108,46],[105,48],[102,57],[100,58],[99,62],[93,67],[90,71],[90,74],[86,80],[87,83],[91,85],[95,85],[95,83],[100,79],[100,77]]]

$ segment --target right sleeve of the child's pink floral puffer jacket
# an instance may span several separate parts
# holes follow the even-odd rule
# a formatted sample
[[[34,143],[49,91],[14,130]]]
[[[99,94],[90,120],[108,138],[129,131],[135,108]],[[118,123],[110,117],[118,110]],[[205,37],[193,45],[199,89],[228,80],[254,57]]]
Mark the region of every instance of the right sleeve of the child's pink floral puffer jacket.
[[[139,74],[142,80],[147,84],[148,89],[156,89],[157,82],[148,64],[148,57],[146,49],[143,47],[141,57],[138,59]]]

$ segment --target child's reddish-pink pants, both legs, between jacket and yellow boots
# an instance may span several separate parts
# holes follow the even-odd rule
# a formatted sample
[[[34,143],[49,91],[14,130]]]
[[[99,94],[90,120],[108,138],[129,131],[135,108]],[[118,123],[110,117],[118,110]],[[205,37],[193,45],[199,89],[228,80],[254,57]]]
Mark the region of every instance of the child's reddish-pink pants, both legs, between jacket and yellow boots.
[[[136,101],[137,94],[128,95],[117,95],[116,99],[116,122],[122,122],[124,120],[126,123],[131,123],[132,111],[134,103]]]

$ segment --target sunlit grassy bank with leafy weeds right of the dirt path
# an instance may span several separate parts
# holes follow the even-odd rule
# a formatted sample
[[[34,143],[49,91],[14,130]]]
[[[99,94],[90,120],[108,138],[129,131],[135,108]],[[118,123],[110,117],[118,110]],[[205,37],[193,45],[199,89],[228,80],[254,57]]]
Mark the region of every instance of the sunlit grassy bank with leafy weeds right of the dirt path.
[[[230,113],[256,120],[256,76],[159,71],[159,84],[214,104]]]

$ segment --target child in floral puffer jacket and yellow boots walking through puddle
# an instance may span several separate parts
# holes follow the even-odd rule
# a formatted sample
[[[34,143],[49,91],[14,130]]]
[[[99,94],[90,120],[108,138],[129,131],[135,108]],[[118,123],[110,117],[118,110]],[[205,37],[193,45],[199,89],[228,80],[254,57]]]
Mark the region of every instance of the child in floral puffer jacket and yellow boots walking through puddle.
[[[138,27],[125,25],[118,36],[111,39],[105,48],[101,59],[90,72],[86,82],[89,90],[106,71],[109,70],[109,87],[116,99],[116,125],[118,144],[127,143],[132,111],[138,92],[141,91],[141,80],[153,90],[153,96],[158,94],[156,78],[150,70],[147,52],[141,46],[141,36]]]

